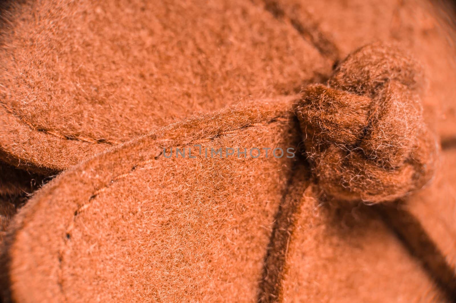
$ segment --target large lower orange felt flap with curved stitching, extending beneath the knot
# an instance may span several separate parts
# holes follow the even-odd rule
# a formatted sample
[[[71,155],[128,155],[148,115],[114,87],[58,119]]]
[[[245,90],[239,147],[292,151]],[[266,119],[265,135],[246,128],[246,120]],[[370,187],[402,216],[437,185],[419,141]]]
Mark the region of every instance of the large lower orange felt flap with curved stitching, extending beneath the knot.
[[[190,118],[52,180],[12,224],[2,263],[6,295],[269,302],[271,283],[285,279],[290,301],[438,297],[376,214],[363,210],[344,227],[350,222],[333,205],[322,207],[313,193],[302,198],[310,183],[304,159],[162,154],[198,144],[297,148],[293,101]]]

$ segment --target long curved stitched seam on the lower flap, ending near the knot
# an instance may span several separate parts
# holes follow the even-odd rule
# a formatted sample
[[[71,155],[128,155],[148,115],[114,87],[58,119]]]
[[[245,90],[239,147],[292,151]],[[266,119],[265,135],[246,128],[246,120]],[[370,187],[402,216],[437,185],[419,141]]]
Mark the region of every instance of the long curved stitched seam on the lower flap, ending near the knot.
[[[269,125],[269,124],[275,123],[275,122],[286,122],[286,121],[289,121],[289,119],[286,118],[285,116],[276,116],[276,117],[274,117],[274,118],[272,118],[272,119],[270,119],[268,121],[252,123],[252,124],[249,124],[249,125],[244,125],[244,126],[238,127],[236,129],[233,129],[233,130],[223,131],[221,133],[218,133],[218,134],[210,136],[210,137],[198,138],[198,139],[192,140],[192,141],[190,141],[188,143],[177,144],[177,145],[174,145],[172,147],[182,147],[182,146],[189,146],[189,145],[194,145],[194,144],[199,144],[199,143],[207,143],[207,142],[211,142],[211,141],[213,141],[213,140],[215,140],[215,139],[217,139],[217,138],[219,138],[221,136],[235,134],[235,133],[238,133],[239,131],[244,131],[244,130],[247,130],[247,129],[251,129],[253,127],[264,126],[264,125]],[[78,214],[81,214],[84,210],[88,209],[90,207],[91,202],[93,201],[93,199],[95,199],[100,193],[105,192],[112,184],[116,183],[119,180],[127,178],[128,176],[130,176],[134,172],[138,171],[139,167],[144,167],[145,165],[150,164],[150,163],[160,159],[162,155],[163,155],[163,151],[161,151],[157,156],[155,156],[153,158],[138,162],[137,164],[135,164],[130,169],[129,172],[125,172],[125,173],[122,173],[122,174],[119,174],[119,175],[115,176],[104,187],[99,188],[98,190],[94,191],[92,193],[92,195],[90,196],[90,198],[88,199],[87,203],[81,205],[80,207],[78,207],[78,209],[76,209],[74,211],[73,218],[71,219],[70,223],[67,225],[67,229],[65,230],[63,247],[62,247],[61,250],[59,250],[58,256],[57,256],[57,260],[59,262],[59,266],[58,266],[59,267],[59,271],[58,271],[58,274],[57,274],[57,284],[58,284],[58,287],[60,288],[60,291],[61,291],[61,293],[62,293],[62,295],[63,295],[63,297],[65,298],[66,301],[68,301],[68,300],[67,300],[66,294],[65,294],[65,292],[63,290],[63,276],[62,276],[63,251],[66,250],[67,241],[71,239],[70,232],[74,228],[74,222],[75,222]],[[145,169],[150,169],[150,168],[151,167],[148,167],[148,168],[145,168]]]

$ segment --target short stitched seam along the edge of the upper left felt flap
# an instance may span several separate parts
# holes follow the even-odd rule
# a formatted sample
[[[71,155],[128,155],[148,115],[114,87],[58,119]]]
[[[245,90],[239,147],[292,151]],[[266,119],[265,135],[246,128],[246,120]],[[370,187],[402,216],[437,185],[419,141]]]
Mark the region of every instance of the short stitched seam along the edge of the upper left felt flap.
[[[17,115],[8,104],[5,104],[4,101],[0,100],[0,104],[3,106],[3,108],[5,108],[6,112],[8,112],[10,115],[15,116],[17,119],[19,119],[23,124],[27,125],[33,131],[39,131],[41,133],[45,133],[47,135],[54,136],[54,137],[62,139],[62,140],[83,141],[83,142],[92,143],[92,144],[104,143],[104,144],[109,144],[109,145],[119,145],[122,143],[122,141],[114,140],[114,139],[106,139],[106,138],[95,139],[95,138],[92,138],[92,137],[86,136],[86,135],[69,135],[69,134],[64,134],[60,131],[49,130],[44,127],[36,127],[35,125],[33,125],[31,122],[25,120],[20,115]]]

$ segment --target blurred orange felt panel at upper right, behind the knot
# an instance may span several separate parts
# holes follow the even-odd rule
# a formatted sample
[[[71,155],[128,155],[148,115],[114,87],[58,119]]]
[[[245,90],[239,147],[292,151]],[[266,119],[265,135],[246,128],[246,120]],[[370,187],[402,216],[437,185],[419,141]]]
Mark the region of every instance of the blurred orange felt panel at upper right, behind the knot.
[[[292,20],[312,16],[318,32],[337,47],[343,59],[359,47],[377,41],[399,43],[423,64],[429,94],[423,99],[442,141],[455,135],[456,39],[454,7],[449,1],[264,0],[265,8]],[[259,1],[260,3],[260,1]],[[454,6],[454,5],[453,5]],[[277,13],[276,13],[277,15]]]

